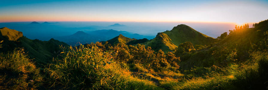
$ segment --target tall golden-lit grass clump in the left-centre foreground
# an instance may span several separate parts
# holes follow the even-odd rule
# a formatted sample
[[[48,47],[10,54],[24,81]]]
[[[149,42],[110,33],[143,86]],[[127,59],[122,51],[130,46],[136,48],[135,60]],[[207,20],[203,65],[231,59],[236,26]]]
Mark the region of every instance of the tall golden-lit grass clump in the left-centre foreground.
[[[109,52],[93,46],[69,48],[57,64],[45,69],[54,89],[158,89],[152,81],[138,79],[111,63]]]

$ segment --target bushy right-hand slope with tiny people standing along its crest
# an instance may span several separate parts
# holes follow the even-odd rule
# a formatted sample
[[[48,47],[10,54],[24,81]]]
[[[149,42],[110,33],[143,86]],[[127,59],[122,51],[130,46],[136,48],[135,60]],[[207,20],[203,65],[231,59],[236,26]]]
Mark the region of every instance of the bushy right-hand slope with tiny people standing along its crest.
[[[224,65],[230,62],[244,62],[254,50],[261,50],[261,42],[265,43],[265,33],[268,30],[268,20],[262,21],[255,28],[243,28],[231,31],[227,37],[216,44],[197,51],[191,57],[181,57],[181,67],[209,67],[211,65]]]

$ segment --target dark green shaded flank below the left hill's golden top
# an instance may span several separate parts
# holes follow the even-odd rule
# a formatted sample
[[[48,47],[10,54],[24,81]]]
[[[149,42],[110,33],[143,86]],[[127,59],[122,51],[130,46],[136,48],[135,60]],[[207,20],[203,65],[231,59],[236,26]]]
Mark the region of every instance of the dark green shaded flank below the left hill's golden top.
[[[49,41],[31,40],[26,37],[18,39],[21,42],[21,47],[25,48],[25,52],[28,52],[30,58],[34,58],[37,65],[46,65],[52,62],[52,58],[60,53],[60,46],[69,46],[66,43],[54,40]]]

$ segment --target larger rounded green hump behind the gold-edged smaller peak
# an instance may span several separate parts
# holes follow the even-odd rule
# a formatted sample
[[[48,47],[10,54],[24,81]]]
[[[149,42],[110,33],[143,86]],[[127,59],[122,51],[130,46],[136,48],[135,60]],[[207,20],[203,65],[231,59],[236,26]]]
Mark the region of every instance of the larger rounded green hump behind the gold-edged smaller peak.
[[[175,26],[171,31],[165,31],[163,33],[168,35],[172,42],[177,46],[186,41],[190,41],[194,45],[207,45],[214,40],[214,38],[202,34],[184,24]]]

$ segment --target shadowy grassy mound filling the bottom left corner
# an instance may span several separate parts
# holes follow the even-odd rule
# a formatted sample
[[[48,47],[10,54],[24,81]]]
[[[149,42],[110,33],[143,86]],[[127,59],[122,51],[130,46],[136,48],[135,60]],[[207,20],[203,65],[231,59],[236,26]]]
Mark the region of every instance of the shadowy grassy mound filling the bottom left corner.
[[[23,51],[0,54],[0,89],[34,89],[42,85],[40,70]]]

